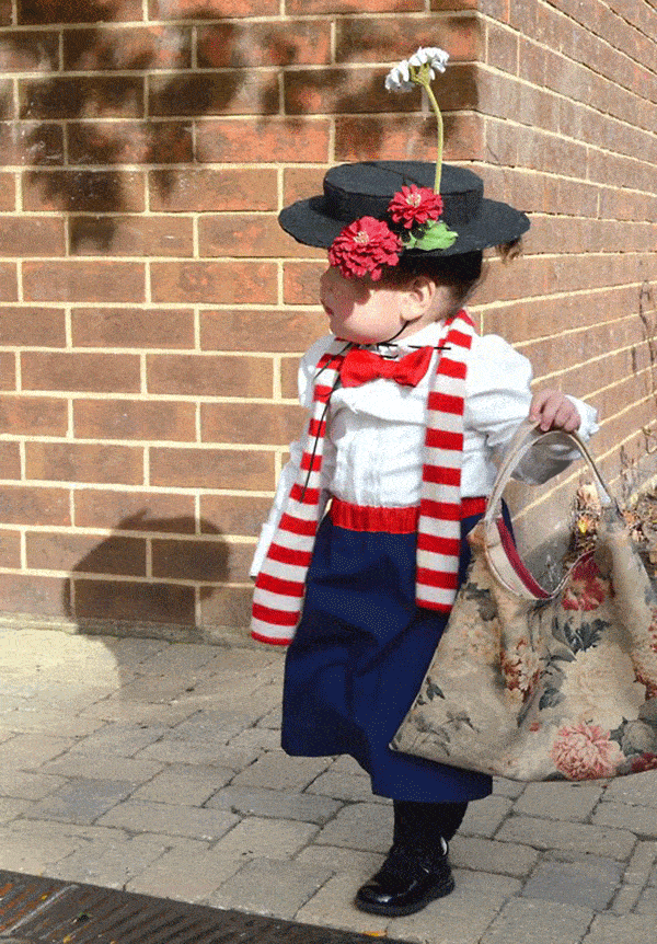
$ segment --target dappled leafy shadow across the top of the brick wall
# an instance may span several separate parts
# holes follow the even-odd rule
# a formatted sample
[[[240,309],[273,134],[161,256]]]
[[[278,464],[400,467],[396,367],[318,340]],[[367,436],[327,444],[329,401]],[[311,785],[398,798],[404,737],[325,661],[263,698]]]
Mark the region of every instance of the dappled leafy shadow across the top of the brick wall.
[[[382,87],[384,70],[355,89],[347,87],[353,85],[353,70],[326,67],[290,71],[289,67],[303,65],[303,44],[312,46],[313,36],[299,37],[291,33],[289,24],[229,22],[228,18],[233,15],[229,0],[181,0],[175,4],[181,11],[180,23],[137,31],[104,27],[103,24],[119,20],[118,14],[126,13],[126,8],[134,2],[18,0],[19,26],[82,24],[80,28],[65,31],[64,74],[57,72],[60,53],[55,32],[38,34],[37,54],[32,32],[7,30],[1,38],[19,59],[32,64],[27,68],[34,68],[35,55],[41,57],[37,65],[45,68],[43,76],[19,82],[16,137],[21,141],[22,160],[34,168],[28,181],[41,191],[43,202],[71,214],[72,252],[83,242],[92,242],[100,251],[108,250],[116,230],[116,220],[111,216],[76,217],[74,214],[129,211],[126,174],[122,176],[117,171],[107,170],[108,165],[160,165],[162,170],[152,176],[165,200],[177,174],[168,165],[203,163],[204,154],[194,152],[192,122],[195,118],[258,115],[262,124],[283,120],[293,131],[306,114],[313,108],[316,112],[319,96],[331,103],[333,113],[356,116],[348,129],[349,145],[353,152],[362,151],[364,157],[377,150],[383,139],[383,125],[390,122],[389,117],[377,120],[377,111],[396,112],[397,127],[412,123],[417,129],[416,115],[404,112],[417,111],[419,94],[395,96],[392,103]],[[166,0],[151,0],[153,19],[161,15],[165,21],[166,9],[163,8],[168,5]],[[135,19],[139,19],[141,3],[135,7]],[[399,9],[403,11],[405,5],[400,3]],[[360,12],[356,2],[353,10]],[[199,31],[196,60],[192,42],[195,21],[207,21],[203,26],[196,24]],[[454,22],[459,28],[458,18]],[[308,28],[315,27],[310,24]],[[255,32],[251,34],[250,30]],[[349,21],[341,36],[341,65],[362,61],[364,69],[367,68],[372,44],[376,44],[379,59],[387,53],[390,61],[400,58],[400,37],[394,31],[388,36],[379,26],[372,37],[357,19]],[[270,68],[255,73],[251,69],[254,65]],[[221,71],[212,71],[216,69]],[[458,70],[451,79],[448,71],[446,82],[437,84],[436,94],[439,100],[448,96],[448,107],[471,108],[475,104],[475,92],[470,67],[459,66]],[[139,73],[150,76],[147,117],[143,74]],[[286,114],[280,111],[281,73]],[[463,90],[458,105],[453,104],[454,82]],[[5,120],[12,107],[11,96],[8,96],[3,103]],[[364,114],[370,118],[366,126],[357,119]],[[125,120],[99,123],[97,118]],[[61,120],[67,122],[64,131]],[[62,134],[68,136],[66,148]],[[448,120],[447,138],[449,134]],[[433,122],[425,123],[422,135],[427,140],[433,139]],[[57,171],[64,163],[65,152],[68,152],[68,168]],[[93,170],[94,165],[102,169]]]

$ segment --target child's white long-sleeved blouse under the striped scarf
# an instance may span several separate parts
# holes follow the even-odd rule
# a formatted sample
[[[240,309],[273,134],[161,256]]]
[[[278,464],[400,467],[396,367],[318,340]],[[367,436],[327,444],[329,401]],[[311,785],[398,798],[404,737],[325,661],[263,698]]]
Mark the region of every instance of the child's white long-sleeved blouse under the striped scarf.
[[[447,327],[439,322],[401,338],[394,347],[378,349],[403,357],[424,345],[440,345],[446,333]],[[308,408],[312,405],[316,364],[334,339],[332,334],[320,338],[301,359],[299,400]],[[322,462],[322,485],[327,495],[374,507],[419,504],[427,399],[438,356],[436,350],[417,387],[379,379],[333,392]],[[487,495],[491,491],[495,463],[529,413],[531,378],[529,360],[502,337],[473,337],[463,413],[463,497]],[[598,429],[597,412],[580,400],[568,399],[579,412],[578,433],[588,440]],[[257,575],[266,556],[302,454],[303,440],[292,442],[290,461],[281,472],[269,518],[261,532],[252,576]],[[570,452],[567,444],[550,437],[545,445],[539,442],[530,450],[514,477],[531,484],[545,482],[578,454]]]

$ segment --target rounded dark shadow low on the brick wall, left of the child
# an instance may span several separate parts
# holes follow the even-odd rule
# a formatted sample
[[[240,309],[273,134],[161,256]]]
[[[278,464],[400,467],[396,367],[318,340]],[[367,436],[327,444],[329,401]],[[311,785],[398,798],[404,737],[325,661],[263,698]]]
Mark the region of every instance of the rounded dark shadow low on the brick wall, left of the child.
[[[130,623],[131,635],[139,624],[145,634],[155,623],[193,630],[200,622],[200,603],[229,579],[228,544],[209,521],[200,525],[203,539],[184,540],[178,536],[195,533],[193,518],[149,518],[146,509],[124,518],[115,534],[72,568],[64,586],[64,612],[82,633],[96,620],[103,621],[103,632],[107,621]]]

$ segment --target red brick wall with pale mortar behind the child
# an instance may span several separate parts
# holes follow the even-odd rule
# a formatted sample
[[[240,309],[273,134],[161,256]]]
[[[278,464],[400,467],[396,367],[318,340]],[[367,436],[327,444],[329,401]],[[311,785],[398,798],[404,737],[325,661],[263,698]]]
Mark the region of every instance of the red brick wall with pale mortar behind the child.
[[[533,218],[482,326],[599,406],[606,468],[631,467],[656,37],[647,0],[0,0],[4,617],[245,624],[323,331],[321,254],[276,215],[337,161],[433,157],[419,94],[382,84],[419,44],[451,54],[446,158]]]

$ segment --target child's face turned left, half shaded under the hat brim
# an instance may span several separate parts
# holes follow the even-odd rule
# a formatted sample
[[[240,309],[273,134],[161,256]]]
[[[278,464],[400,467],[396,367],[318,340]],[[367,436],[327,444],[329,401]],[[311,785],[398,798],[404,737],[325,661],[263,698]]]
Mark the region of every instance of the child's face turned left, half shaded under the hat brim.
[[[320,301],[331,331],[356,344],[397,335],[407,322],[406,296],[403,288],[378,286],[369,278],[345,278],[335,266],[328,266],[320,280]]]

